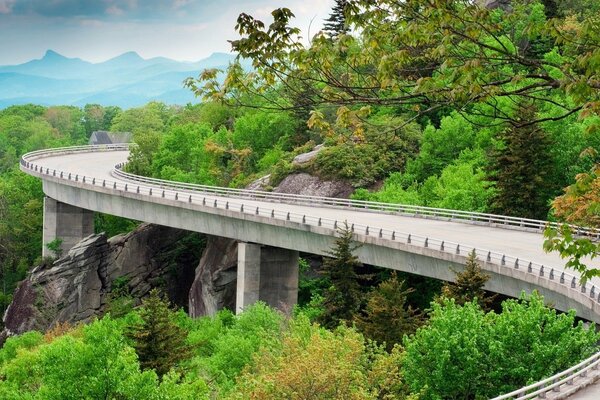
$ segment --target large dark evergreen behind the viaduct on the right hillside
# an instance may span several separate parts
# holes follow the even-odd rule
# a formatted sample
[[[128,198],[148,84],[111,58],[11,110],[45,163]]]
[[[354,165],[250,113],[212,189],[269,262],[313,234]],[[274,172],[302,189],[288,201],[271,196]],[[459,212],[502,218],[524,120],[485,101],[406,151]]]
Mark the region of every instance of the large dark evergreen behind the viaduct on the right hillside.
[[[519,107],[518,123],[498,137],[501,148],[492,154],[490,180],[496,193],[492,211],[515,217],[546,219],[552,197],[550,139],[537,124],[533,104]]]

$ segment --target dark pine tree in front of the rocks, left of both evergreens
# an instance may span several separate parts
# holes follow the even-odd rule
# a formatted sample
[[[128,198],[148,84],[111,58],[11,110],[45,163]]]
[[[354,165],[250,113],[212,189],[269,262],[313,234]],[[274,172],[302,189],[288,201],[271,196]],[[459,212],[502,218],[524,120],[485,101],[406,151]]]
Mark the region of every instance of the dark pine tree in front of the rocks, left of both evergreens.
[[[141,322],[127,332],[142,369],[154,369],[159,377],[190,356],[187,332],[175,324],[173,315],[169,302],[152,289],[139,309]]]

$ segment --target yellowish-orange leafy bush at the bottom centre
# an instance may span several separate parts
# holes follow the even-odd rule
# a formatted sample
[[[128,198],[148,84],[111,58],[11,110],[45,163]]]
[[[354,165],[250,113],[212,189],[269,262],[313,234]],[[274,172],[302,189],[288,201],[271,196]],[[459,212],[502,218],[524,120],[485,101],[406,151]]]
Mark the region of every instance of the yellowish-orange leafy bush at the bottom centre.
[[[401,360],[398,351],[373,351],[350,328],[331,332],[299,318],[281,348],[257,353],[231,398],[404,399]]]

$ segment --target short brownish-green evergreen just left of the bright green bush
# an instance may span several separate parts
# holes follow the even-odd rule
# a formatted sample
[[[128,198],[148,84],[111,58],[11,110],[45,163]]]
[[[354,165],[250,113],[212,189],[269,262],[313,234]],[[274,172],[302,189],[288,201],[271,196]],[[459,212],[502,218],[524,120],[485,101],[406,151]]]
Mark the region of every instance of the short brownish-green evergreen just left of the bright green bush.
[[[370,293],[364,314],[356,318],[358,329],[391,351],[404,335],[414,333],[423,323],[423,315],[406,305],[412,292],[414,289],[405,289],[404,281],[394,272]]]

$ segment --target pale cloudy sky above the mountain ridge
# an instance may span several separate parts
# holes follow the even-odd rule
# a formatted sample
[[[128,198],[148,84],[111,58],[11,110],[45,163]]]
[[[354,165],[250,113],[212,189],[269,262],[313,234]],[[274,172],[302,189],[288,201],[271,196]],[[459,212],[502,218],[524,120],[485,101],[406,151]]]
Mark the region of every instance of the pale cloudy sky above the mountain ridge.
[[[237,16],[264,22],[278,7],[296,15],[305,40],[334,0],[0,0],[0,65],[41,58],[46,50],[100,62],[128,51],[143,58],[198,61],[229,52]]]

